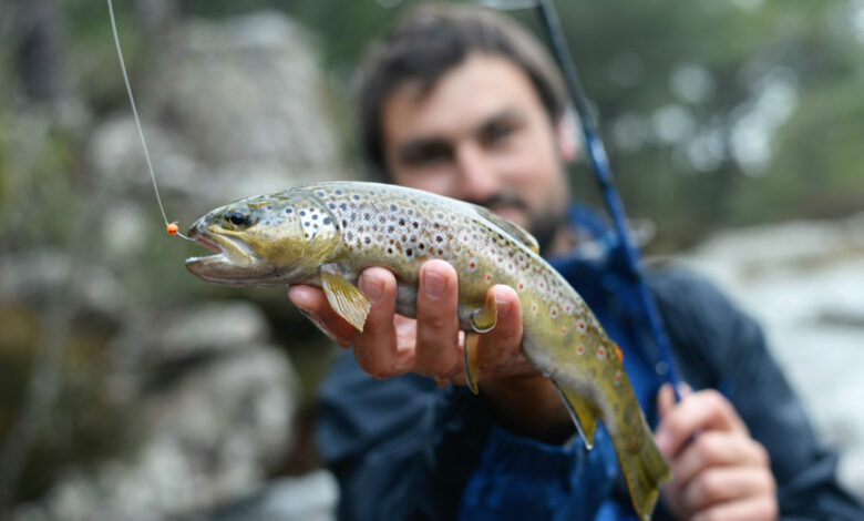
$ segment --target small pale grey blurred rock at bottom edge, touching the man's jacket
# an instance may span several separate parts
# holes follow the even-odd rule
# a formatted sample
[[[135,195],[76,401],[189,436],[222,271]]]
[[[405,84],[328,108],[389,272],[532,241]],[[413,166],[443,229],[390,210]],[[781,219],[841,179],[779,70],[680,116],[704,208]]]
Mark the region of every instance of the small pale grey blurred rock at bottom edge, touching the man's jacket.
[[[270,482],[259,493],[195,521],[333,521],[339,484],[327,470]]]

